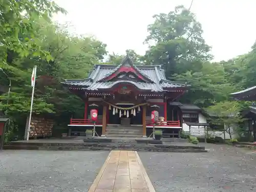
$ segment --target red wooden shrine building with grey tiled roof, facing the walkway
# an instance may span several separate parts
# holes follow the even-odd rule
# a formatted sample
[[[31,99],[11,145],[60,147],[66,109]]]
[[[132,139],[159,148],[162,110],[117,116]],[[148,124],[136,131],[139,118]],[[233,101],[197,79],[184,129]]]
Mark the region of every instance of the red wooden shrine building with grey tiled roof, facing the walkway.
[[[132,136],[147,137],[153,127],[152,111],[159,112],[156,129],[177,137],[182,129],[182,110],[172,103],[178,103],[174,101],[189,86],[186,82],[167,80],[160,65],[135,66],[131,58],[125,56],[118,66],[95,65],[88,78],[65,79],[62,84],[84,101],[83,119],[71,118],[70,132],[78,127],[84,132],[93,126],[92,109],[98,110],[96,130],[99,136],[128,136],[129,131],[122,132],[122,129],[131,129],[137,130]]]

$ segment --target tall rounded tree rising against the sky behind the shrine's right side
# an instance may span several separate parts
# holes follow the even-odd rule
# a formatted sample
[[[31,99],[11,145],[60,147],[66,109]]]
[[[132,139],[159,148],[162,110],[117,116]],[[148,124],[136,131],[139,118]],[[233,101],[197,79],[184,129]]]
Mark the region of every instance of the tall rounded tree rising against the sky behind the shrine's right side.
[[[166,76],[198,71],[202,61],[212,58],[210,47],[202,37],[202,27],[183,6],[178,6],[168,14],[153,16],[155,22],[148,26],[145,42],[150,45],[145,60],[148,64],[164,66]]]

